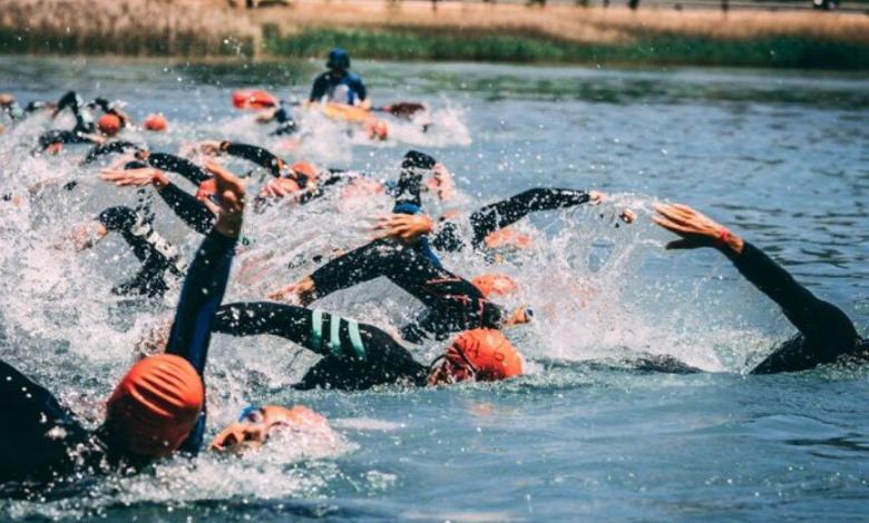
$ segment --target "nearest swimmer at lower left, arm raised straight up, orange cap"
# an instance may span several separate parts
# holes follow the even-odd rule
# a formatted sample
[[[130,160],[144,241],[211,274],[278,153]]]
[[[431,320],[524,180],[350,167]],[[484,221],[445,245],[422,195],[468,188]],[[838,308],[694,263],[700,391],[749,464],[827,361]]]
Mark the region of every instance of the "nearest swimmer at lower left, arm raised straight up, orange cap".
[[[238,179],[223,169],[214,174],[221,213],[191,264],[166,354],[133,365],[98,428],[85,428],[50,392],[0,362],[0,395],[14,416],[0,434],[0,482],[55,482],[72,473],[79,481],[79,474],[133,471],[175,452],[198,453],[208,326],[223,299],[244,209]]]

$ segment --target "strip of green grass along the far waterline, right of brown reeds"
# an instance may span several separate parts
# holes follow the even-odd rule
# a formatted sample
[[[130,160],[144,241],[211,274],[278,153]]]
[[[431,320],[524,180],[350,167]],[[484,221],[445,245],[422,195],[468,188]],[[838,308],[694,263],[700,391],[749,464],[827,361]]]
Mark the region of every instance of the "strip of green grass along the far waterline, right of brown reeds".
[[[267,33],[265,52],[311,57],[339,46],[353,56],[391,60],[468,60],[869,69],[869,45],[797,36],[717,40],[684,34],[645,33],[629,43],[574,43],[545,37],[429,33],[410,30],[325,30]]]

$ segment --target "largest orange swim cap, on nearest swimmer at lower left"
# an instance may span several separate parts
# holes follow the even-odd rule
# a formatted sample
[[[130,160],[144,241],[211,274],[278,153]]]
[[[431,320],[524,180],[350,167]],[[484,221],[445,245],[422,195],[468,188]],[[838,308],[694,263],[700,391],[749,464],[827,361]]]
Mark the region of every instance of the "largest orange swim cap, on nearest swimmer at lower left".
[[[143,456],[177,450],[205,403],[202,378],[186,359],[170,354],[147,357],[127,372],[109,397],[106,421],[125,444]]]

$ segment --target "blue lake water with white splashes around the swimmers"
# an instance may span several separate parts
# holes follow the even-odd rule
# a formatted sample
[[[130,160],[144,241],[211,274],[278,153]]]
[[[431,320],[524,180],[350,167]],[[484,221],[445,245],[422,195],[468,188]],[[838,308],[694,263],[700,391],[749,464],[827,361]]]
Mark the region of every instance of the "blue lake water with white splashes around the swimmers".
[[[364,62],[375,103],[422,100],[428,132],[394,122],[372,145],[312,118],[304,139],[266,137],[230,93],[266,87],[303,98],[316,63],[256,67],[0,59],[2,90],[22,101],[76,89],[164,111],[155,150],[196,139],[267,145],[289,158],[394,177],[408,148],[457,177],[471,210],[539,187],[598,189],[599,207],[524,221],[534,247],[498,267],[517,279],[535,323],[508,334],[529,373],[500,384],[364,393],[293,392],[314,361],[281,339],[215,336],[208,364],[213,435],[242,406],[304,404],[338,441],[275,441],[262,452],[203,453],[72,492],[0,500],[3,517],[110,520],[363,519],[863,520],[869,506],[869,372],[745,373],[793,333],[768,298],[714,251],[665,251],[651,204],[682,201],[728,224],[869,334],[869,78],[752,70],[613,70]],[[60,124],[69,120],[61,120]],[[60,125],[58,124],[58,125]],[[31,157],[37,117],[0,136],[0,357],[55,392],[88,425],[133,346],[177,299],[119,300],[109,288],[137,262],[117,238],[76,254],[53,246],[78,223],[135,200],[78,168],[82,151]],[[238,171],[248,165],[232,164]],[[26,187],[75,177],[74,191]],[[260,175],[254,172],[254,179]],[[201,237],[157,207],[156,227],[187,254]],[[638,219],[619,225],[628,207]],[[438,207],[434,206],[436,210]],[[314,266],[286,262],[365,241],[387,198],[324,198],[246,218],[227,300],[260,299]],[[462,275],[479,256],[449,255]],[[258,278],[237,272],[245,263]],[[490,268],[489,268],[490,269]],[[418,309],[384,282],[319,306],[389,327]],[[437,344],[418,349],[422,361]],[[709,371],[643,373],[641,354]],[[11,421],[10,421],[11,422]]]

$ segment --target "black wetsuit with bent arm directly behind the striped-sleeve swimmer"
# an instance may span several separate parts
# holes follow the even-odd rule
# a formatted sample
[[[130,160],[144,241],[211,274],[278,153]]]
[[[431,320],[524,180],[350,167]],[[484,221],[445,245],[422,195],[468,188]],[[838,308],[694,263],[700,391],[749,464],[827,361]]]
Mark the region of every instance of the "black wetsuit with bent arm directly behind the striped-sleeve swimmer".
[[[385,276],[422,302],[428,310],[404,326],[404,339],[420,342],[428,335],[443,339],[470,328],[498,328],[504,312],[470,282],[438,266],[419,249],[381,239],[346,253],[316,269],[315,298],[362,282]]]

